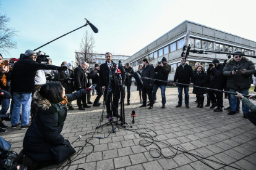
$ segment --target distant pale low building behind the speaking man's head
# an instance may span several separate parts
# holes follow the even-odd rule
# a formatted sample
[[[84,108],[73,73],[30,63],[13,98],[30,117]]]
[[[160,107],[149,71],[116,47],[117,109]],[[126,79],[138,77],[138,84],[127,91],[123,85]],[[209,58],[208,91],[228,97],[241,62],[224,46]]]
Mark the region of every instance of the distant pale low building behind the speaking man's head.
[[[92,56],[92,64],[98,63],[101,65],[101,63],[105,63],[105,53],[106,52],[95,52],[93,54],[90,54]],[[130,56],[125,54],[116,54],[112,53],[113,61],[115,63],[118,63],[119,60],[121,60],[122,63],[124,63],[124,60],[127,60]],[[84,54],[82,52],[75,51],[75,65],[78,66],[81,62],[83,62],[83,56]]]

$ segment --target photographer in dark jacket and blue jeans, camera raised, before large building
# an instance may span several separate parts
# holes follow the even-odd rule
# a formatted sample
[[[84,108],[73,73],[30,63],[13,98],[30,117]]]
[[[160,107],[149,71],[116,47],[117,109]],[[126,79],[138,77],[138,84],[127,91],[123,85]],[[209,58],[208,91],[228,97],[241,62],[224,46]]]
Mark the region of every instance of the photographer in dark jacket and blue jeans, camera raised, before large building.
[[[169,72],[171,71],[171,68],[167,64],[167,60],[165,57],[161,60],[161,62],[158,62],[158,66],[155,68],[155,72],[157,73],[155,79],[160,79],[167,81]],[[165,98],[165,89],[166,89],[167,83],[161,82],[161,81],[155,81],[154,87],[153,87],[153,99],[156,98],[156,92],[158,90],[158,87],[161,89],[161,95],[162,95],[162,108],[165,108],[166,98]]]

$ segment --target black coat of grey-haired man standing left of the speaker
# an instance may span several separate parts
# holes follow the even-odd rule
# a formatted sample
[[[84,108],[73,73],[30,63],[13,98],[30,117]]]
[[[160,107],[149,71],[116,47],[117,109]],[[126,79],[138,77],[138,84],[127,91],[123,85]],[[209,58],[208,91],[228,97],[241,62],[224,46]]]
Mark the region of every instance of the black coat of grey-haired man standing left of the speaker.
[[[79,91],[80,89],[85,89],[87,86],[87,73],[83,68],[79,65],[79,67],[74,70],[75,76],[75,91]],[[81,87],[81,88],[79,88]]]

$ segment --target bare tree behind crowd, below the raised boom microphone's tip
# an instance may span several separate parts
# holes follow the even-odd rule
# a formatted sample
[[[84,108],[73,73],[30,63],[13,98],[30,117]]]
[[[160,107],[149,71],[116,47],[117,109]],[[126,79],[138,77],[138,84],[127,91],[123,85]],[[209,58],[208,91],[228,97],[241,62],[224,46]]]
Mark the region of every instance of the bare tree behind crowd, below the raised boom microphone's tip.
[[[95,39],[93,34],[88,34],[88,31],[85,31],[82,41],[80,42],[80,50],[83,54],[83,61],[87,62],[90,65],[90,68],[93,67],[96,63],[95,54],[93,54],[93,47],[95,44]]]

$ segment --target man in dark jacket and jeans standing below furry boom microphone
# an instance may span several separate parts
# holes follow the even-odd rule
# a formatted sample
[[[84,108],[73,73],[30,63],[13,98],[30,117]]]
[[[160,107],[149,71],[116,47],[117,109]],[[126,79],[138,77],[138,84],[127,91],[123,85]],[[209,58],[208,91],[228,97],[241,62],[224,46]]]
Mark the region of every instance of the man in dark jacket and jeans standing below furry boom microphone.
[[[174,75],[174,86],[176,86],[176,81],[177,83],[182,83],[182,84],[194,84],[194,72],[193,69],[190,65],[186,63],[186,60],[184,57],[181,59],[181,65],[177,67],[177,70]],[[181,107],[182,105],[182,91],[184,89],[185,93],[185,105],[186,108],[189,108],[189,86],[184,86],[184,85],[177,85],[178,87],[178,92],[179,92],[179,102],[176,107]]]

